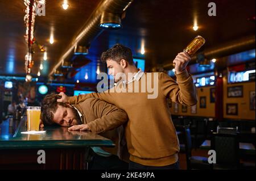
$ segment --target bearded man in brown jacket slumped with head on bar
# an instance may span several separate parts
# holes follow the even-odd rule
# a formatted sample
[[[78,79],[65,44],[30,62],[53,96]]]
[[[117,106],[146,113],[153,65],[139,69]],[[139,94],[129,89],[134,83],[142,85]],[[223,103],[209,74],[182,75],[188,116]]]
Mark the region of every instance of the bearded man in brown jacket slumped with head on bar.
[[[125,111],[100,99],[90,98],[79,104],[58,103],[57,94],[49,94],[42,105],[43,123],[91,131],[112,140],[114,148],[92,147],[89,169],[128,169],[129,154],[123,125],[128,120]],[[43,124],[40,125],[43,127]],[[119,158],[118,158],[119,157]],[[125,162],[126,161],[126,162]]]

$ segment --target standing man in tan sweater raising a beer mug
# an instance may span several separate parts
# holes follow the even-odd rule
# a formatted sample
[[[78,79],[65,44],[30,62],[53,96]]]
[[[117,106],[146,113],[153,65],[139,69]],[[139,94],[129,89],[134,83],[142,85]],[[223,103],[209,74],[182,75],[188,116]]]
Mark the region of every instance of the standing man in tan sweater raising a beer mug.
[[[187,106],[197,103],[196,86],[186,70],[191,58],[187,53],[177,54],[173,61],[176,81],[164,73],[138,70],[133,64],[131,50],[123,45],[117,44],[102,53],[101,59],[106,61],[109,74],[118,82],[116,86],[105,92],[79,96],[68,97],[60,93],[62,97],[57,101],[77,104],[95,97],[125,110],[129,117],[125,128],[129,169],[178,169],[179,140],[167,98]],[[130,73],[134,73],[133,77],[129,77]],[[150,89],[152,85],[154,92]]]

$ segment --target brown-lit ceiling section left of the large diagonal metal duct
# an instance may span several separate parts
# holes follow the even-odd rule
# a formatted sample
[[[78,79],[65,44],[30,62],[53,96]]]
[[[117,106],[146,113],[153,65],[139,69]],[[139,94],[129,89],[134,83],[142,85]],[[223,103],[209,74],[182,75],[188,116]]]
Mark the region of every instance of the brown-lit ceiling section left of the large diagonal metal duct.
[[[63,10],[63,1],[46,1],[46,16],[36,16],[35,39],[47,48],[49,67],[53,67],[61,54],[67,49],[69,42],[76,36],[82,24],[89,18],[100,0],[68,1],[69,9]],[[24,74],[24,56],[27,44],[24,39],[25,5],[22,0],[0,1],[0,73]],[[50,33],[53,30],[55,43],[49,44]],[[35,62],[32,73],[37,73],[43,53],[35,46],[33,57]],[[13,69],[10,68],[13,66]]]

